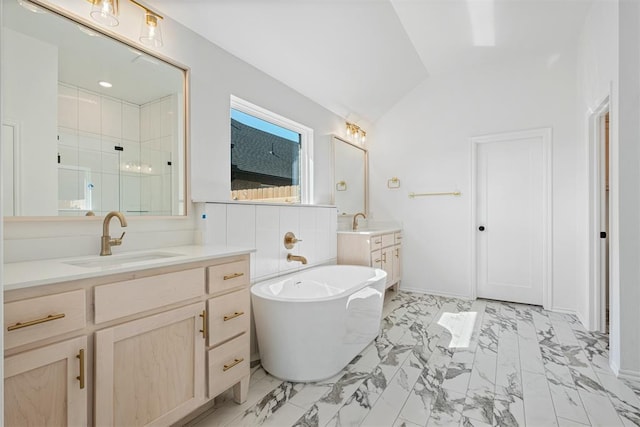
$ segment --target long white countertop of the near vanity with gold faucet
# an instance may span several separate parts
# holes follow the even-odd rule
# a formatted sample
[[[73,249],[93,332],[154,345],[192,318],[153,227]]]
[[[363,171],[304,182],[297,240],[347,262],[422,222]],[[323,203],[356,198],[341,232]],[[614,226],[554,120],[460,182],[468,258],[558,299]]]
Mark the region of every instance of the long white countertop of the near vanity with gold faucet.
[[[70,280],[88,279],[109,274],[127,273],[149,268],[165,267],[208,259],[224,258],[234,255],[245,255],[254,252],[253,248],[233,246],[174,246],[168,248],[148,249],[144,251],[123,252],[111,257],[95,255],[72,258],[56,258],[37,261],[13,262],[4,264],[4,290],[28,288],[31,286],[50,285]],[[145,254],[175,255],[170,257],[127,262],[127,258],[144,256]],[[100,258],[109,258],[109,265],[79,266],[70,263],[91,262]],[[123,262],[118,263],[121,259]],[[98,261],[99,262],[99,261]]]

